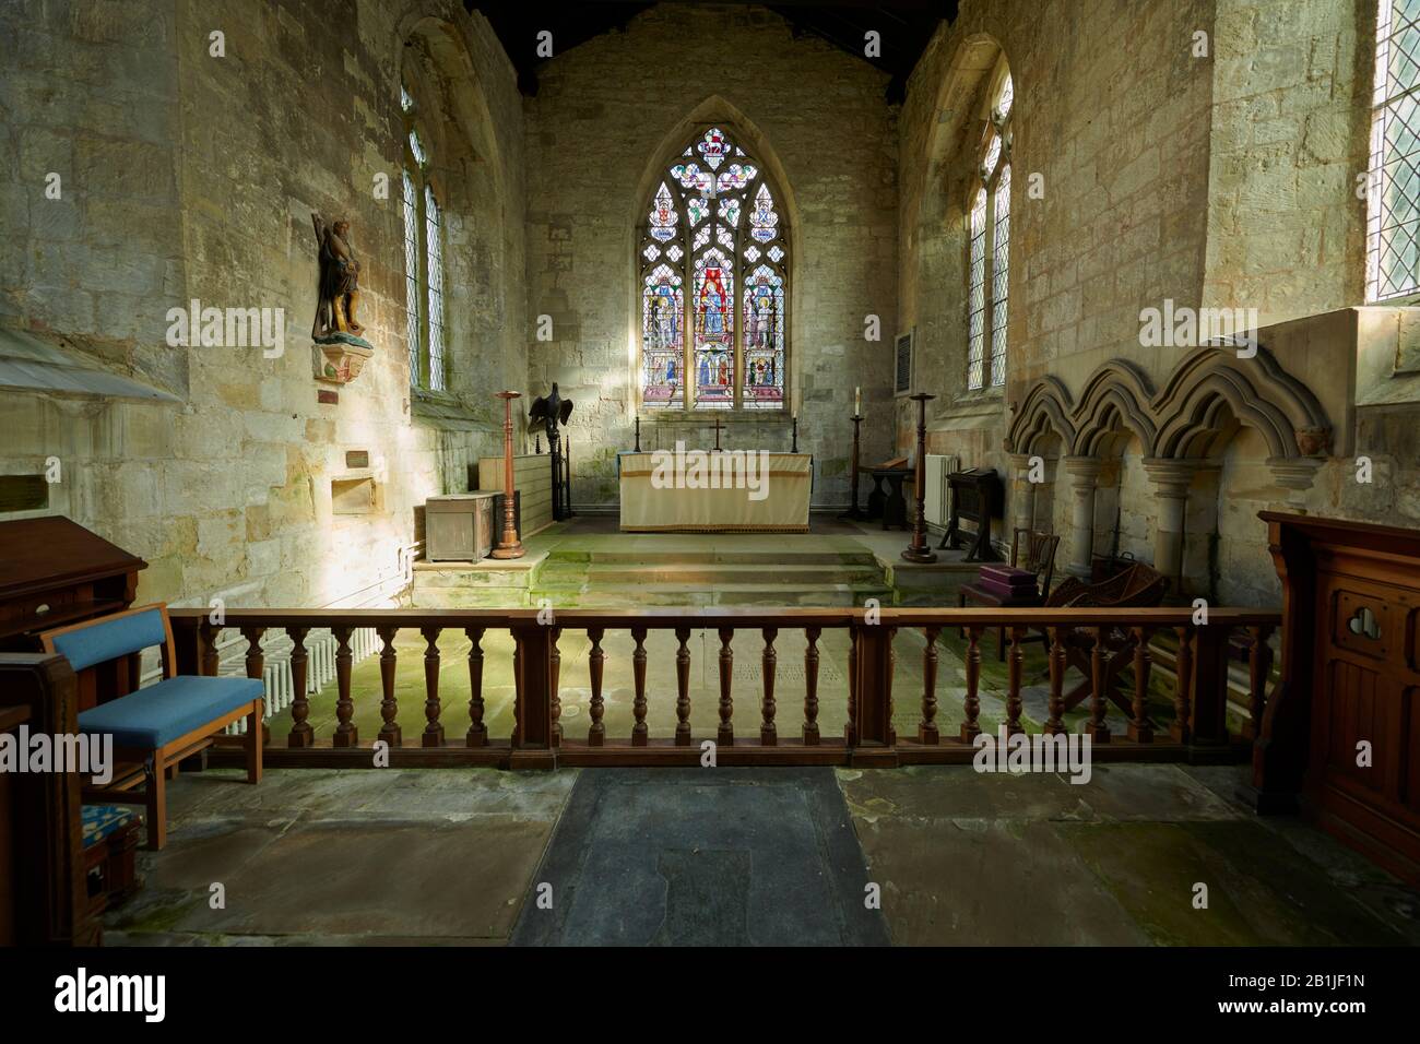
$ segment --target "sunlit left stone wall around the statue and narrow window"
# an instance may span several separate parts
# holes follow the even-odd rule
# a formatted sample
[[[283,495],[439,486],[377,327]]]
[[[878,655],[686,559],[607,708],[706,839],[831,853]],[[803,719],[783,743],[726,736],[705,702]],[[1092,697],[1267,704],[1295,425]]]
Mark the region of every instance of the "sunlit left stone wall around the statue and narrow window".
[[[176,13],[77,0],[0,17],[23,55],[6,78],[0,163],[17,173],[3,200],[26,264],[16,271],[6,250],[0,321],[179,399],[0,393],[16,435],[0,470],[58,456],[70,486],[51,509],[146,558],[142,599],[318,607],[398,589],[416,507],[466,489],[467,463],[500,447],[491,392],[525,374],[507,322],[525,308],[521,101],[487,23],[457,0],[280,0],[240,14],[217,0]],[[449,395],[427,399],[410,395],[405,335],[406,60],[425,62],[443,109],[452,376]],[[47,169],[67,175],[62,207],[43,197]],[[312,210],[351,222],[376,347],[338,405],[317,402],[312,378]],[[166,312],[192,298],[284,310],[284,351],[169,347]],[[349,450],[366,450],[368,467]],[[338,514],[332,482],[366,477],[369,510]]]

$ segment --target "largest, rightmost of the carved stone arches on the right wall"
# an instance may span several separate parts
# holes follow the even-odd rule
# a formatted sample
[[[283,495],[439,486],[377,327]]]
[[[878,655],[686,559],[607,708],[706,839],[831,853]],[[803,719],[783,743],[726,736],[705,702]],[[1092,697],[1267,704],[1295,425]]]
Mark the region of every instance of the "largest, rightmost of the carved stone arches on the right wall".
[[[1245,359],[1231,347],[1197,349],[1173,371],[1153,412],[1156,457],[1201,457],[1233,419],[1257,429],[1272,457],[1318,456],[1331,445],[1316,396],[1262,347]]]

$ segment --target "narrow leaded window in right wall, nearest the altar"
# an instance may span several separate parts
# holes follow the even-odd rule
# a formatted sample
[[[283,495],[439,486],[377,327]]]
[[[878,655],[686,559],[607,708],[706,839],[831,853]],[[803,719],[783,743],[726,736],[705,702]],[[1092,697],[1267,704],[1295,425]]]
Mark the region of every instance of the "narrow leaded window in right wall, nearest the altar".
[[[976,176],[967,195],[967,389],[1005,384],[1011,266],[1011,112],[1015,85],[1005,62],[993,77]]]

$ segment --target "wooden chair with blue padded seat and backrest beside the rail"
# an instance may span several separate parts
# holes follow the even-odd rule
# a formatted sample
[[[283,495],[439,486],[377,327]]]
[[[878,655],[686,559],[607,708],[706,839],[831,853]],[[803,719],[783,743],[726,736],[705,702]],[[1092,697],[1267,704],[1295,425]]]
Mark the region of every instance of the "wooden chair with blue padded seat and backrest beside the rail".
[[[176,774],[178,763],[210,746],[217,733],[243,717],[247,781],[261,781],[261,682],[175,676],[178,660],[166,605],[143,605],[47,631],[40,639],[45,652],[64,656],[75,673],[160,646],[163,679],[158,685],[99,703],[78,717],[80,732],[114,737],[116,761],[142,766],[141,773],[115,773],[102,795],[105,801],[146,805],[148,848],[166,842],[166,781]]]

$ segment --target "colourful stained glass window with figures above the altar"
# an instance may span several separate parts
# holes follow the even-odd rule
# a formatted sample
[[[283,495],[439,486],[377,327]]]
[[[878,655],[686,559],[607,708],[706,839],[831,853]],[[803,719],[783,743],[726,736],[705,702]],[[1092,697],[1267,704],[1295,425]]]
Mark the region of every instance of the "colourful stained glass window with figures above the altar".
[[[648,214],[636,244],[643,406],[784,409],[790,250],[763,165],[730,129],[701,128]]]

